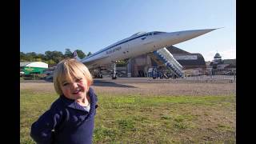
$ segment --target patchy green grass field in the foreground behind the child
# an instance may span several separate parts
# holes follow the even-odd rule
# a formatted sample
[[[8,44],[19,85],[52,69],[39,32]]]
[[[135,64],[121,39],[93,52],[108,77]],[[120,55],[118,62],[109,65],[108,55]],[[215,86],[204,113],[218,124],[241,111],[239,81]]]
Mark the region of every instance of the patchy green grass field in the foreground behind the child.
[[[21,90],[21,143],[58,96]],[[235,143],[235,96],[98,94],[94,143]]]

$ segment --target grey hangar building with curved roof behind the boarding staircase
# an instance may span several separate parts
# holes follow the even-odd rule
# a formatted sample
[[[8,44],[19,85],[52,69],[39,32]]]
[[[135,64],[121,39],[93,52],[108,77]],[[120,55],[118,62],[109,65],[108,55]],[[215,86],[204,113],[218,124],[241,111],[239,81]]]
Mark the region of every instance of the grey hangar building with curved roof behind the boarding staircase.
[[[197,75],[206,70],[206,62],[199,53],[189,53],[175,46],[166,47],[173,54],[174,58],[183,66],[184,74]],[[150,67],[157,67],[158,64],[150,58],[149,54],[142,54],[136,58],[130,58],[127,65],[128,77],[146,77]]]

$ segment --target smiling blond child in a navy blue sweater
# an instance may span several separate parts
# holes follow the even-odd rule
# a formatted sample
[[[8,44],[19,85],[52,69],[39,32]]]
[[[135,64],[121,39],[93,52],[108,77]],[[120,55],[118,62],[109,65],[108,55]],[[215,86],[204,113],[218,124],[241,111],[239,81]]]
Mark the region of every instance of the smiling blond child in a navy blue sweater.
[[[54,70],[54,89],[60,95],[31,126],[38,143],[92,143],[97,95],[90,88],[93,78],[77,60],[65,59]]]

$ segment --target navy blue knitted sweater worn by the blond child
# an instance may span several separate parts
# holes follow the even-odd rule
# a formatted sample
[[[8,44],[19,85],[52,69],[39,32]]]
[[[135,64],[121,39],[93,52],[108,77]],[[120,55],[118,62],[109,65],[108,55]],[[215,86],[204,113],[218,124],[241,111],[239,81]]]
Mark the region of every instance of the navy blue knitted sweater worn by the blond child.
[[[94,115],[98,101],[89,89],[89,113],[74,100],[61,95],[38,121],[31,126],[30,136],[38,143],[87,144],[92,143]]]

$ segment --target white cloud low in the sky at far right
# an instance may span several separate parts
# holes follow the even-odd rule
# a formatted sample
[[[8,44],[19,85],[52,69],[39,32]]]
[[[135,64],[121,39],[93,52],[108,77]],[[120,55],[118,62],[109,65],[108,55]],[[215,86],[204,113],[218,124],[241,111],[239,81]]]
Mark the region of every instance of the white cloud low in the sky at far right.
[[[214,55],[218,52],[218,54],[221,55],[222,59],[234,59],[236,58],[236,49],[231,48],[227,50],[217,51],[212,50],[208,52],[207,54],[202,54],[203,58],[205,58],[205,61],[212,61],[214,59]]]

